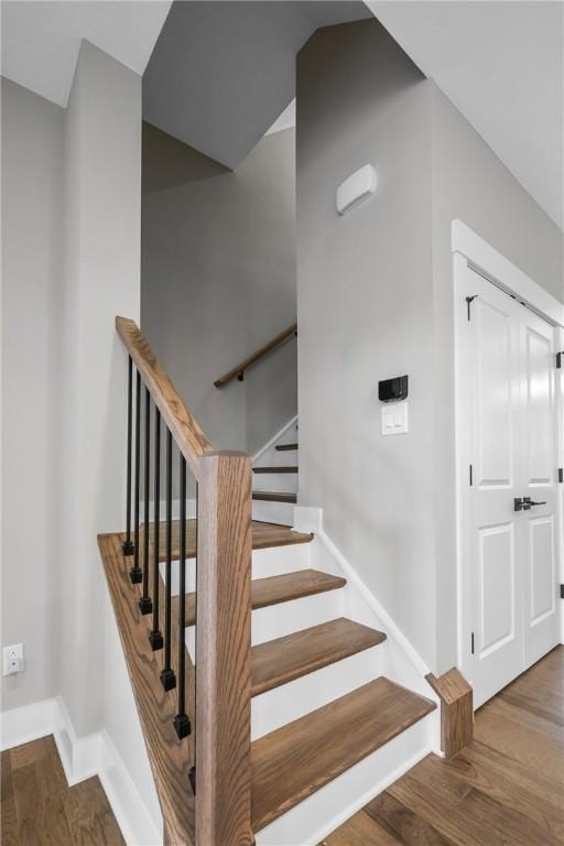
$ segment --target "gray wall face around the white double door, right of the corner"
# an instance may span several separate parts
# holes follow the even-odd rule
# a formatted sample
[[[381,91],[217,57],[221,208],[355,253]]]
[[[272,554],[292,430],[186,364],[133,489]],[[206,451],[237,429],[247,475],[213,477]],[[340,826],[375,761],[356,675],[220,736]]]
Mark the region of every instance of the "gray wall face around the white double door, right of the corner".
[[[434,85],[433,264],[438,666],[456,662],[454,335],[451,221],[459,218],[564,302],[563,235]]]

